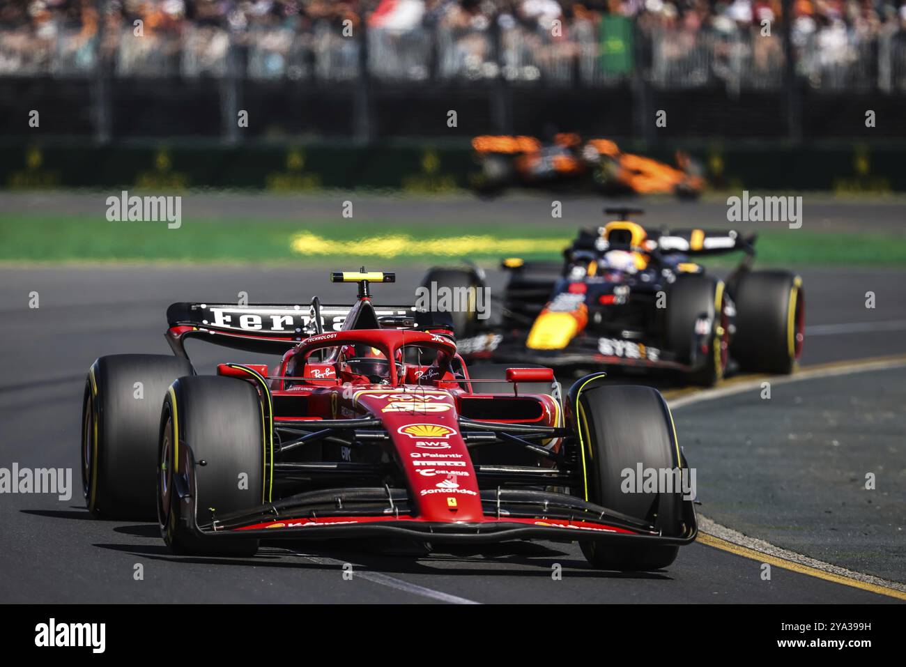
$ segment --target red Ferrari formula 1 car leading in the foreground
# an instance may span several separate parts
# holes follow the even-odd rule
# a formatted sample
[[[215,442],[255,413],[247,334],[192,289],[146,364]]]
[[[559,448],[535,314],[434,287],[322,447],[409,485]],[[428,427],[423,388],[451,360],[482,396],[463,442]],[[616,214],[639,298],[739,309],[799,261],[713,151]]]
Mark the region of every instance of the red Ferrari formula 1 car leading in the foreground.
[[[626,469],[687,468],[658,391],[597,373],[562,396],[547,368],[470,379],[444,314],[372,304],[369,283],[392,280],[333,274],[359,284],[352,307],[172,304],[174,356],[94,362],[89,509],[156,515],[179,554],[251,555],[263,538],[542,538],[579,541],[597,567],[646,570],[695,539],[688,489],[621,485]],[[222,363],[201,376],[192,337],[283,356],[272,373]]]

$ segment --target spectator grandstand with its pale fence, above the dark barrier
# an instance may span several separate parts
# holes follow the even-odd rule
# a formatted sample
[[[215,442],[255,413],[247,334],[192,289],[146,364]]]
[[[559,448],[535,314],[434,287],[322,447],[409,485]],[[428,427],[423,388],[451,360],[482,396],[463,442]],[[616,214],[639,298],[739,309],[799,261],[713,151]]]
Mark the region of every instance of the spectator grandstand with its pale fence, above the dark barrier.
[[[906,90],[906,0],[787,5],[809,86]],[[3,0],[0,76],[770,90],[786,27],[781,0]]]

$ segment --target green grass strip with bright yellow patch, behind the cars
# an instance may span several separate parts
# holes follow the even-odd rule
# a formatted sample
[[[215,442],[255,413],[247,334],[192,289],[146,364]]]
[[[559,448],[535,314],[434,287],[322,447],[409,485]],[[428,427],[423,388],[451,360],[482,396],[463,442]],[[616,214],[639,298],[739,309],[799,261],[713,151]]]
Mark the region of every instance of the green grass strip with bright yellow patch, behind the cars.
[[[749,231],[747,229],[747,231]],[[906,266],[906,235],[759,231],[759,265]],[[300,237],[299,235],[304,235]],[[472,257],[557,258],[570,233],[553,224],[501,225],[487,220],[184,220],[108,222],[97,217],[0,213],[0,261],[177,261],[294,264],[429,263]],[[296,244],[294,247],[294,239]],[[726,263],[718,258],[709,263]]]

